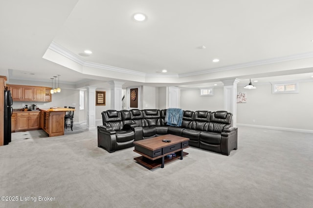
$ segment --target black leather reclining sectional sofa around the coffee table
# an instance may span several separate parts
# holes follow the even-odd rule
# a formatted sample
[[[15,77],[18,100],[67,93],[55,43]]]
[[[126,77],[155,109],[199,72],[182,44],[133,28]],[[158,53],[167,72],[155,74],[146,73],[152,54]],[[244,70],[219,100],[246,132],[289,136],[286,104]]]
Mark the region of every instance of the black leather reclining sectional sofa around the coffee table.
[[[164,122],[165,110],[108,110],[98,126],[98,147],[109,152],[133,147],[133,142],[164,134],[189,138],[189,145],[229,155],[237,150],[237,128],[231,127],[232,114],[226,111],[183,111],[180,127]]]

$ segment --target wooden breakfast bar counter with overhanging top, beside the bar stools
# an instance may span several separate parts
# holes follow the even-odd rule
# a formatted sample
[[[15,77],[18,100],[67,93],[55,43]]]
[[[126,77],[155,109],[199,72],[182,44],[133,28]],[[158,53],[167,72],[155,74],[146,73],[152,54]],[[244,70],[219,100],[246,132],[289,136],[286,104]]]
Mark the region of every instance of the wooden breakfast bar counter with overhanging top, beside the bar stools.
[[[64,135],[64,117],[66,112],[75,111],[70,108],[51,108],[40,110],[40,127],[49,136]]]

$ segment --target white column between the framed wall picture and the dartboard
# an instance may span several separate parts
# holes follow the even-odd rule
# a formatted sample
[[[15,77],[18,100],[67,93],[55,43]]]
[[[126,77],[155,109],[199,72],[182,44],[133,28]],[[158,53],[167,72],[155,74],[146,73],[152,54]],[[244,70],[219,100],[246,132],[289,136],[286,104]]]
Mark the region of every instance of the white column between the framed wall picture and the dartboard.
[[[124,82],[110,81],[111,88],[111,109],[122,110],[122,85]]]

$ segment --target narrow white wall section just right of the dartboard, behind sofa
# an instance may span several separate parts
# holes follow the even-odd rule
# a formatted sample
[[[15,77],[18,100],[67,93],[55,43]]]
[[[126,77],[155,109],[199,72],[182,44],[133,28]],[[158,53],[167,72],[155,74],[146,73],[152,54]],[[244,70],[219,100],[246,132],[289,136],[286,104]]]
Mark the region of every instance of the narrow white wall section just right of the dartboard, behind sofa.
[[[158,108],[158,87],[142,87],[142,109],[159,109]]]

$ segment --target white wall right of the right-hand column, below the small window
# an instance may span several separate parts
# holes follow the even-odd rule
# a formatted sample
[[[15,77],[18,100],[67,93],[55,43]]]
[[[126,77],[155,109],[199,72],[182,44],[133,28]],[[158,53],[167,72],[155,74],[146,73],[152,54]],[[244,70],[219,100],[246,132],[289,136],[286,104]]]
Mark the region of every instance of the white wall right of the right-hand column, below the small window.
[[[287,129],[313,130],[313,82],[300,82],[298,94],[272,94],[271,84],[257,89],[238,87],[247,102],[237,103],[237,123]]]

